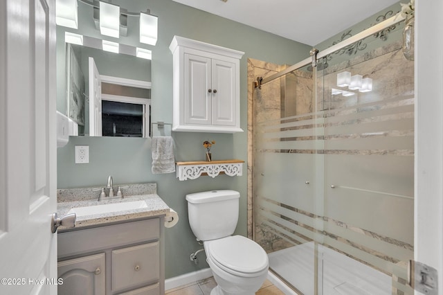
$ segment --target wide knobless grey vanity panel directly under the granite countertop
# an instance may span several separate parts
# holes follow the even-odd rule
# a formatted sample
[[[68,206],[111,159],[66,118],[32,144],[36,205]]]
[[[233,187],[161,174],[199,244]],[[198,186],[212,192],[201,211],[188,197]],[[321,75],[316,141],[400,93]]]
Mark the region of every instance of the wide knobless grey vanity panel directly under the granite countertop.
[[[158,240],[160,219],[141,220],[57,234],[58,257]]]

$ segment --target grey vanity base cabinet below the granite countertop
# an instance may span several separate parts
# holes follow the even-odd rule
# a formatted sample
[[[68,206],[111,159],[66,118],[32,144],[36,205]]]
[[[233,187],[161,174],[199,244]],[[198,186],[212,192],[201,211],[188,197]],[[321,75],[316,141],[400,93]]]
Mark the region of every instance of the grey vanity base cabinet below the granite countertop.
[[[58,233],[58,293],[164,294],[163,221]]]

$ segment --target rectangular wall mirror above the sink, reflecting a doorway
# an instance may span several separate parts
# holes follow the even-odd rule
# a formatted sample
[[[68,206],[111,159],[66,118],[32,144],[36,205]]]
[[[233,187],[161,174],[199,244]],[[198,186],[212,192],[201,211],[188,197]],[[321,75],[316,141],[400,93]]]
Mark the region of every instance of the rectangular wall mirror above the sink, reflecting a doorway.
[[[90,60],[97,77],[91,77]],[[66,43],[66,115],[78,123],[79,135],[147,137],[148,80],[150,60]],[[101,81],[98,89],[94,81]]]

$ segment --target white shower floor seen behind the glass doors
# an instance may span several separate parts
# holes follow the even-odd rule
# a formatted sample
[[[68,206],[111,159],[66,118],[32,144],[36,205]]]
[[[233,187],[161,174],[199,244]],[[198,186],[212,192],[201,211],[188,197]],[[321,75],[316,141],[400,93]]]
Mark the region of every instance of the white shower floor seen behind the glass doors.
[[[318,260],[319,271],[323,265],[319,294],[391,294],[390,276],[321,245],[318,250],[323,252],[323,260]],[[271,269],[302,294],[314,294],[314,261],[314,242],[269,253]]]

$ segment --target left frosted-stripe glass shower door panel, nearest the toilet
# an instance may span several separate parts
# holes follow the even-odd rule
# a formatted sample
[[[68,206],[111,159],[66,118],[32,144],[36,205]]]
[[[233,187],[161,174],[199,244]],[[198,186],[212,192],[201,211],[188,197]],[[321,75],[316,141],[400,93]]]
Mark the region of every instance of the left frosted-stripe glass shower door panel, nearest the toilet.
[[[263,85],[254,99],[255,241],[269,253],[271,269],[303,294],[317,289],[314,241],[323,215],[314,75],[303,66]]]

